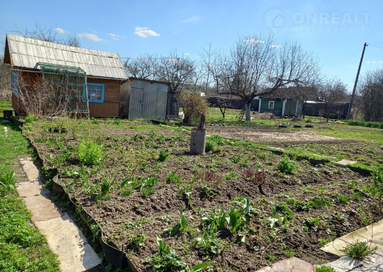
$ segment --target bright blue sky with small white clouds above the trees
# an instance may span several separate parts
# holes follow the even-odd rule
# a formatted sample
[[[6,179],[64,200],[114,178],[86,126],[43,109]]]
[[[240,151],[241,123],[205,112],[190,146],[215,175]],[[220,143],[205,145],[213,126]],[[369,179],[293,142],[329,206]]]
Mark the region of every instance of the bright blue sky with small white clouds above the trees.
[[[239,35],[274,33],[318,55],[322,71],[352,89],[363,43],[362,73],[383,68],[383,1],[0,1],[0,40],[16,29],[57,28],[83,47],[121,57],[179,52],[197,58],[209,42],[229,49]],[[3,46],[3,44],[0,44]]]

